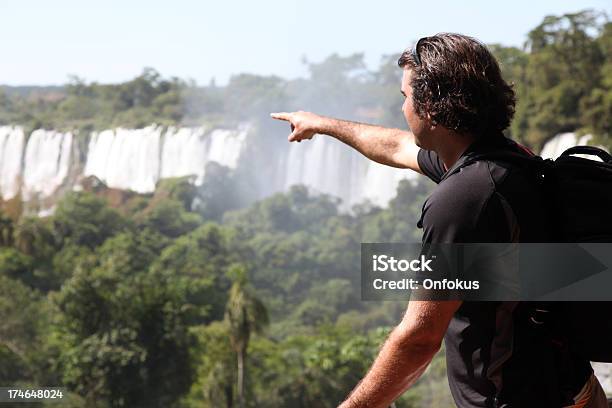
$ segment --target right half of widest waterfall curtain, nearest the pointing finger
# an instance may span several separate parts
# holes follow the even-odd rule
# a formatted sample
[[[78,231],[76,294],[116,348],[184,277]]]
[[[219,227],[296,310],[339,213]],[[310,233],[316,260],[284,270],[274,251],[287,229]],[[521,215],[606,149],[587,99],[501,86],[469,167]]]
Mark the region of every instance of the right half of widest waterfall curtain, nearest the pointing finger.
[[[194,175],[195,183],[204,181],[206,164],[211,161],[236,168],[246,140],[247,128],[216,129],[169,128],[164,135],[161,178]]]

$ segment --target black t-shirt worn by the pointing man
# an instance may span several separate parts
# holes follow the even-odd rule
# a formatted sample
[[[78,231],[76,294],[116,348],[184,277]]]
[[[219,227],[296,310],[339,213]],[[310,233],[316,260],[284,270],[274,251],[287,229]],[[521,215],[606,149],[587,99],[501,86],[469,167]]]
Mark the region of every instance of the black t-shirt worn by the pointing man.
[[[499,136],[463,155],[525,151]],[[462,156],[463,157],[463,156]],[[444,164],[420,150],[421,171],[439,183],[423,205],[423,243],[551,242],[540,190],[524,170],[478,161],[441,181]],[[590,363],[556,348],[533,330],[525,302],[464,301],[445,336],[448,380],[458,407],[570,405],[592,372]]]

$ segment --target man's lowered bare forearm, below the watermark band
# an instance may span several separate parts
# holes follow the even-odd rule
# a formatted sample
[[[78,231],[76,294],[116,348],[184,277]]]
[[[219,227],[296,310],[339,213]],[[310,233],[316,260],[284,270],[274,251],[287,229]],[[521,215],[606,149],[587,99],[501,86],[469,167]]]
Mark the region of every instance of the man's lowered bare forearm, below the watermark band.
[[[386,408],[425,371],[461,301],[411,301],[365,378],[340,408]]]

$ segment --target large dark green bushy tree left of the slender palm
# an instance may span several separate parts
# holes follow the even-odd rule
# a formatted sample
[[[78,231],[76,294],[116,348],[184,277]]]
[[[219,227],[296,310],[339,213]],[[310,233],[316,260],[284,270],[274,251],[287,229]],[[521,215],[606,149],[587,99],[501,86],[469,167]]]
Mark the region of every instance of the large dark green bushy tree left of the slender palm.
[[[96,251],[54,298],[63,380],[91,402],[166,407],[192,381],[184,288],[149,270],[154,237],[123,233]]]

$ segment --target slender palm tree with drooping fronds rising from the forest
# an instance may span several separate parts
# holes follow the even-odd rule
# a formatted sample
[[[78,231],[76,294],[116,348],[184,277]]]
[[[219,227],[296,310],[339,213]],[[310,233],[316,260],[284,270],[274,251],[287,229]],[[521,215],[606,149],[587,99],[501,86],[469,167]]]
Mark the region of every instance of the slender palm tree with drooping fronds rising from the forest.
[[[253,333],[261,333],[268,324],[268,312],[248,286],[246,268],[240,264],[230,266],[228,274],[234,276],[225,319],[229,325],[230,342],[238,360],[238,403],[244,408],[244,364],[249,339]]]

